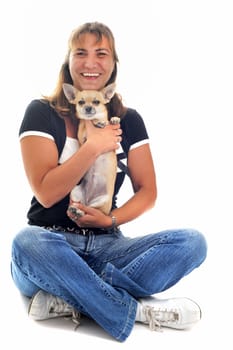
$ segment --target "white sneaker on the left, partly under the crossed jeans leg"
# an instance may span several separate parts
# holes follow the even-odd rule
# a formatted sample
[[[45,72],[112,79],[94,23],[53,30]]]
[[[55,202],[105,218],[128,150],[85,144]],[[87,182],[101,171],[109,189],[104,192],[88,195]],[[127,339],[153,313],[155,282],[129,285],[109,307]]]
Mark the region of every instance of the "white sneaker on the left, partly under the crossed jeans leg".
[[[31,299],[28,314],[36,321],[48,320],[55,317],[71,317],[79,325],[80,314],[64,300],[39,290]]]

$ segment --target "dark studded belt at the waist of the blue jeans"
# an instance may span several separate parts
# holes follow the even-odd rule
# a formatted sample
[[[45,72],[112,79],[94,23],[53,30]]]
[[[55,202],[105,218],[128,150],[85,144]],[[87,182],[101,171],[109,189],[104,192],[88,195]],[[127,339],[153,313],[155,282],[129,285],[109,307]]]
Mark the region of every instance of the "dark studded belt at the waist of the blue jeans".
[[[95,235],[101,235],[101,234],[107,234],[107,233],[113,233],[115,229],[103,229],[103,228],[75,228],[75,227],[63,227],[63,226],[43,226],[46,230],[49,231],[58,231],[58,232],[66,232],[66,233],[76,233],[78,235],[87,236],[90,234]]]

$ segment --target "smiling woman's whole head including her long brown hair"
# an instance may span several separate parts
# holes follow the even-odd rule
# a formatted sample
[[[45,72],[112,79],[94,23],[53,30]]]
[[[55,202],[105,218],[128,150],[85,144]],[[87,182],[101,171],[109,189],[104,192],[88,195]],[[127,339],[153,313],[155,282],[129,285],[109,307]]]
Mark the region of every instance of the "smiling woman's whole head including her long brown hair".
[[[115,39],[108,27],[102,23],[86,23],[72,31],[68,43],[57,87],[54,94],[47,97],[61,112],[72,108],[64,96],[64,82],[73,84],[78,90],[100,90],[106,82],[115,82],[117,76]],[[125,108],[118,94],[114,94],[109,106],[112,114],[124,114]]]

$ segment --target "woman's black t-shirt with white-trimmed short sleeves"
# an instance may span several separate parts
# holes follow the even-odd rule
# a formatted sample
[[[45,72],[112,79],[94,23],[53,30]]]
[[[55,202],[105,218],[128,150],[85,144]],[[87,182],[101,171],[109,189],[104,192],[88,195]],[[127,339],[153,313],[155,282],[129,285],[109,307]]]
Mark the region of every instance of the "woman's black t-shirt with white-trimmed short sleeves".
[[[143,119],[134,109],[128,108],[125,116],[121,120],[123,131],[121,147],[117,151],[119,161],[115,191],[113,198],[113,208],[116,207],[116,195],[123,184],[127,172],[128,152],[148,143],[148,134]],[[19,137],[43,136],[53,140],[57,146],[59,157],[64,152],[66,144],[66,128],[64,120],[58,113],[44,100],[33,100],[25,111],[22,120]],[[33,196],[31,206],[27,213],[28,223],[39,226],[62,226],[76,227],[75,223],[66,214],[69,205],[69,195],[50,208],[43,207]]]

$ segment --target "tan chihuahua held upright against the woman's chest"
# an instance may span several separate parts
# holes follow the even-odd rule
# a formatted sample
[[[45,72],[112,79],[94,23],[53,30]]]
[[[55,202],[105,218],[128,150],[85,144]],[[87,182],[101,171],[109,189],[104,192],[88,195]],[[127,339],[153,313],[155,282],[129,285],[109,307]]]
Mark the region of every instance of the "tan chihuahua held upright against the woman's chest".
[[[78,141],[82,145],[86,141],[84,120],[92,120],[96,127],[104,128],[108,123],[108,111],[105,106],[115,94],[115,84],[110,84],[101,91],[77,90],[71,84],[63,84],[63,91],[68,101],[76,106]],[[118,124],[120,118],[112,117],[111,124]],[[84,205],[102,210],[108,215],[112,207],[112,197],[117,172],[116,152],[101,154],[86,172],[81,183],[71,191],[71,199]],[[69,210],[77,216],[83,216],[83,211],[72,207]]]

